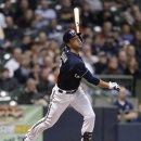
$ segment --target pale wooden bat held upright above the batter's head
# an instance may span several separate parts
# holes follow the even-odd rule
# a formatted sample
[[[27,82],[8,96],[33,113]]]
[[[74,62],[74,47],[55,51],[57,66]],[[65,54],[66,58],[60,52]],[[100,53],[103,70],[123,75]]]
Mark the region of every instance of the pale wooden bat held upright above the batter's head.
[[[74,17],[75,17],[76,31],[79,33],[79,9],[78,8],[74,9]]]

